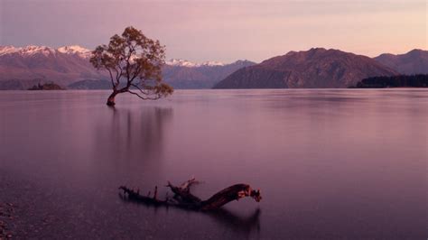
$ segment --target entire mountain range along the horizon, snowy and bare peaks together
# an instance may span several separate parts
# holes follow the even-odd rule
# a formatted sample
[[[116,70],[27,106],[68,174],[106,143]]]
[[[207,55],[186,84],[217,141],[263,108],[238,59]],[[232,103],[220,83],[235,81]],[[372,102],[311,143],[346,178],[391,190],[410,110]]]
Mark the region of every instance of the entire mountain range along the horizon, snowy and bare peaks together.
[[[110,88],[106,72],[92,67],[80,46],[0,46],[0,89],[55,82],[65,88]],[[290,51],[256,64],[237,60],[193,63],[167,60],[163,80],[173,88],[346,88],[363,78],[428,72],[428,51],[382,54],[374,59],[322,48]]]

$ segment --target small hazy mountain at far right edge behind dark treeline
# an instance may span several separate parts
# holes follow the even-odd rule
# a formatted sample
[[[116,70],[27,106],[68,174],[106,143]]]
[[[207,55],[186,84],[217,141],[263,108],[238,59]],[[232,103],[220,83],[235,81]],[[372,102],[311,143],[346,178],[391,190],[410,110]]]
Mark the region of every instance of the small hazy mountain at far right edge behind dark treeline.
[[[415,49],[405,54],[385,53],[374,60],[401,74],[428,74],[428,51]]]

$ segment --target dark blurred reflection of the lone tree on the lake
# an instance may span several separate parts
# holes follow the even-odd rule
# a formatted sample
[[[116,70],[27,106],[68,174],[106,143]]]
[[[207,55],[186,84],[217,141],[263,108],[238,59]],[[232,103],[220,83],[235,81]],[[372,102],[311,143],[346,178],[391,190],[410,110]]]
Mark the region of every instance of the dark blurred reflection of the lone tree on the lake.
[[[161,161],[164,134],[172,116],[172,108],[160,106],[108,108],[106,119],[94,134],[94,158],[100,159],[102,154],[103,161],[114,162],[118,168],[144,168],[144,162]]]

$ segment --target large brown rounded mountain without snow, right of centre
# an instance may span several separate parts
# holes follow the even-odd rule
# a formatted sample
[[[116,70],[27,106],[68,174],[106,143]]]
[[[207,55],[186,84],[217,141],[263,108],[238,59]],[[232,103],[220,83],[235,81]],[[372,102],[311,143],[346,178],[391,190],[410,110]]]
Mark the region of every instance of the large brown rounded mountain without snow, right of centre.
[[[363,78],[396,74],[366,56],[313,48],[238,69],[214,88],[347,88]]]

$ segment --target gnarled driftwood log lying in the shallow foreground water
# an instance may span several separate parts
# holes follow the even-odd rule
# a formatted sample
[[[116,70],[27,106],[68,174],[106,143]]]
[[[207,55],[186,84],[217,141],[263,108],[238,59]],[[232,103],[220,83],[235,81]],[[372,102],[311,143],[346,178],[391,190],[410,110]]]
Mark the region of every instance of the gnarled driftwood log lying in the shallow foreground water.
[[[165,207],[178,207],[188,208],[191,210],[214,210],[221,208],[223,205],[230,201],[238,200],[240,198],[250,197],[254,198],[256,202],[262,199],[260,190],[251,189],[247,184],[235,184],[226,189],[220,190],[211,198],[201,200],[200,198],[191,194],[191,186],[199,183],[195,179],[187,180],[180,186],[174,186],[168,181],[166,187],[172,190],[174,194],[172,198],[159,199],[157,197],[157,186],[154,188],[154,195],[151,196],[149,191],[146,196],[140,194],[140,190],[128,189],[125,186],[119,187],[124,191],[124,197],[127,196],[129,200],[142,202],[147,205],[165,206]]]

